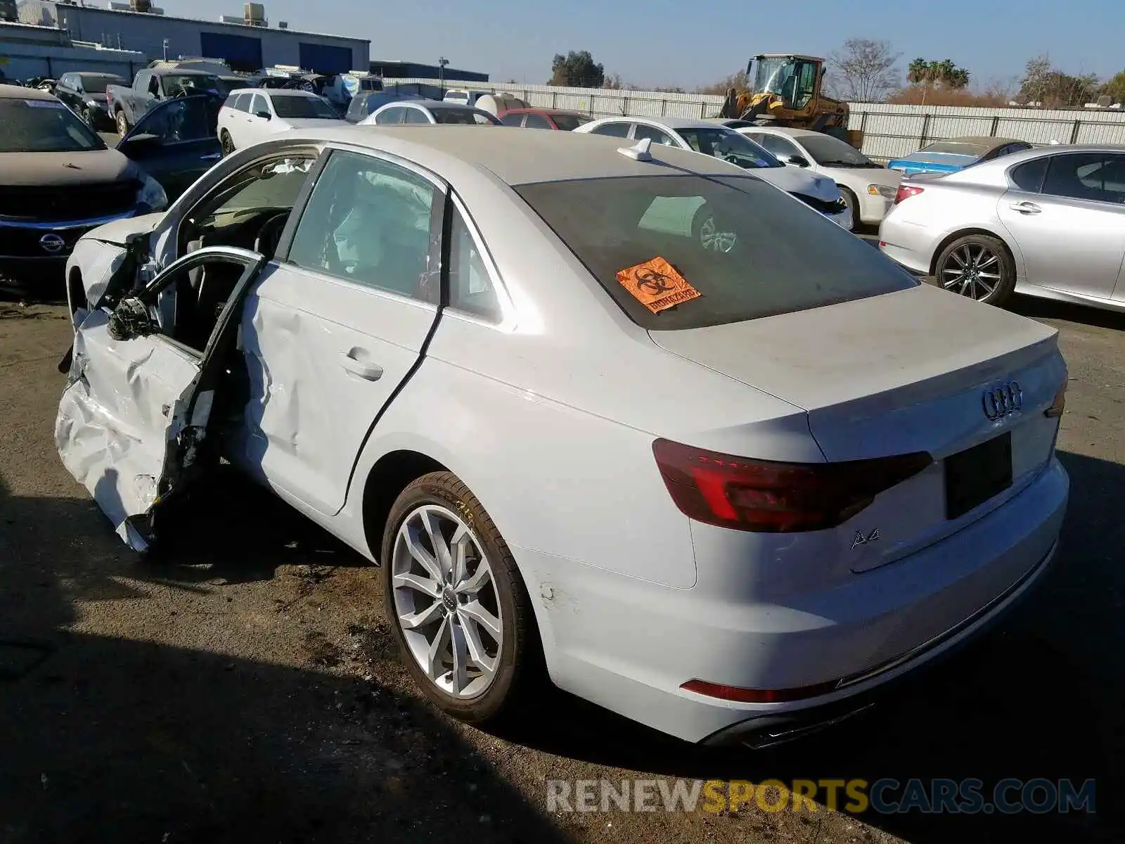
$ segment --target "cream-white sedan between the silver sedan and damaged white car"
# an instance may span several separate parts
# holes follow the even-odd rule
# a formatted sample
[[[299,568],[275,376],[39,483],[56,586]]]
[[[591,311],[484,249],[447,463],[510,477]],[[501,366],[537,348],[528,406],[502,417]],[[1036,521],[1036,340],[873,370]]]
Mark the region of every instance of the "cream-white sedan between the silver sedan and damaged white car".
[[[773,126],[736,129],[792,168],[826,176],[840,189],[853,223],[879,225],[894,205],[902,173],[876,164],[838,137],[810,129]]]

